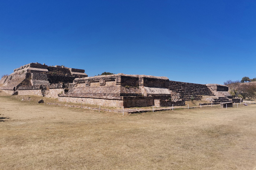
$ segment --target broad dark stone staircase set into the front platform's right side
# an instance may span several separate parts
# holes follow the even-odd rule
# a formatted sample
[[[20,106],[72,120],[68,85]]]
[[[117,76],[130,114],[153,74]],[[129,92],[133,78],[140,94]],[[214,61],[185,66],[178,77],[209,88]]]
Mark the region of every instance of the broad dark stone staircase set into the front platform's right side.
[[[169,90],[180,93],[180,97],[186,101],[194,97],[194,100],[201,100],[203,96],[214,96],[205,84],[185,83],[170,81]]]

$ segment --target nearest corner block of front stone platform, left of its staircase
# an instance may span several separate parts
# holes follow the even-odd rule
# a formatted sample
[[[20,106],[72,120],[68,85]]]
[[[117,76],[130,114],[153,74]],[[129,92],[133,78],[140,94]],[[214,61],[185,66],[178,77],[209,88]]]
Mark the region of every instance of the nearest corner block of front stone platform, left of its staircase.
[[[76,78],[60,101],[84,102],[111,107],[147,107],[184,105],[184,99],[173,99],[167,77],[114,74]]]

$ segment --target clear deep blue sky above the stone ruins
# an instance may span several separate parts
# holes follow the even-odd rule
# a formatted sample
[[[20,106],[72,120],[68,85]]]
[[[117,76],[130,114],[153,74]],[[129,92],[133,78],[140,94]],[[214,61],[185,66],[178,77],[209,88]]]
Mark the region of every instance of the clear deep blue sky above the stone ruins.
[[[255,9],[255,0],[0,0],[0,75],[39,62],[88,76],[254,78]]]

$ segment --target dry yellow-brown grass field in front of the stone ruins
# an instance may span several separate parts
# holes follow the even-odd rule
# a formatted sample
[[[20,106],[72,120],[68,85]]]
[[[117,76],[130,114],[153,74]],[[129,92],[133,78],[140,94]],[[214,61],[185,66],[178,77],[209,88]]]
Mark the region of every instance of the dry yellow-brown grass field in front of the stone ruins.
[[[256,169],[256,104],[121,114],[0,97],[0,169]]]

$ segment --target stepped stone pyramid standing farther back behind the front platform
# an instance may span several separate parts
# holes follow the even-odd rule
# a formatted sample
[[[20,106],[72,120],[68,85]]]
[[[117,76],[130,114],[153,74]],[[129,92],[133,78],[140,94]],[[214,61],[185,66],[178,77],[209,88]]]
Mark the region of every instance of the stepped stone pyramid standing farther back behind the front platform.
[[[12,74],[2,77],[0,83],[1,90],[8,94],[45,96],[47,88],[51,89],[50,94],[60,93],[78,77],[87,77],[87,74],[82,69],[30,63],[14,69]]]

